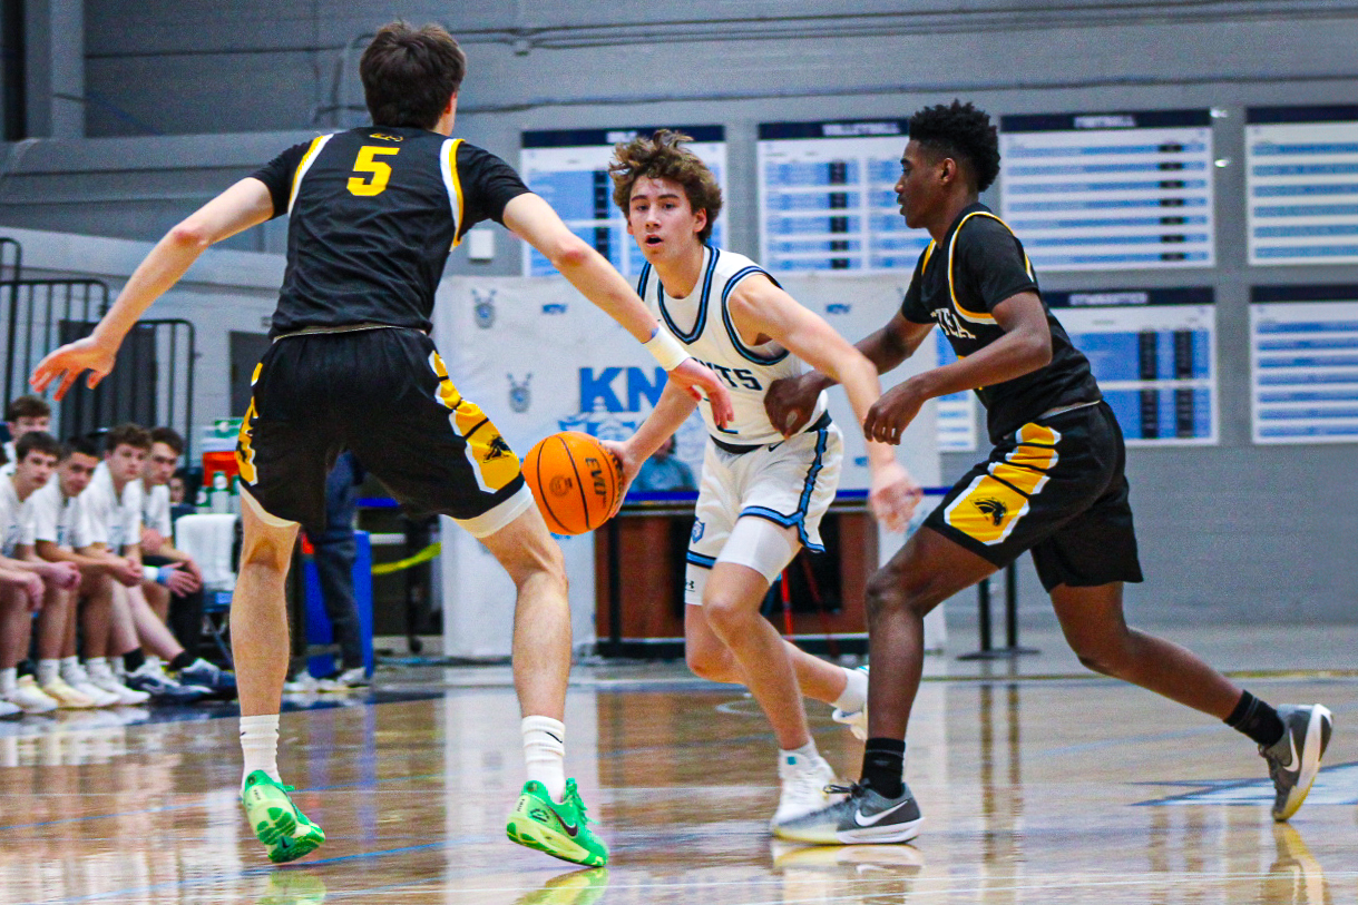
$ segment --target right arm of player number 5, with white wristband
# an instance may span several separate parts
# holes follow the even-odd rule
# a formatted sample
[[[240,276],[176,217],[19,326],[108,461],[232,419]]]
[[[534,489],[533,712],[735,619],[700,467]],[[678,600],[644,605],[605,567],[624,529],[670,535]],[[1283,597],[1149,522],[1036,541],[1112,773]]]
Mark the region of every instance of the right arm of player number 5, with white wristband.
[[[679,343],[660,330],[627,281],[603,255],[570,232],[557,212],[538,195],[519,195],[505,205],[504,224],[516,236],[540,251],[572,286],[622,324],[656,361],[669,372],[669,380],[690,388],[697,398],[712,402],[712,414],[722,427],[735,415],[731,393],[714,373],[690,358]]]

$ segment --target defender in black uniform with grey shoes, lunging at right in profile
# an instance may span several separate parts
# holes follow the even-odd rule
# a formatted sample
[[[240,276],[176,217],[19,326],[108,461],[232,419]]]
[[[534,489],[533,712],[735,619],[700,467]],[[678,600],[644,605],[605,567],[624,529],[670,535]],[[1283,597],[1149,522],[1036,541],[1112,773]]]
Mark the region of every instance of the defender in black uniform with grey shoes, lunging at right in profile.
[[[1038,289],[1023,244],[978,202],[999,172],[990,118],[974,106],[926,107],[910,119],[896,183],[906,225],[933,242],[900,311],[858,343],[880,370],[899,365],[937,324],[959,361],[883,393],[864,425],[889,444],[928,399],[975,389],[990,456],[944,497],[868,585],[872,676],[862,780],[847,799],[793,821],[811,843],[899,843],[922,821],[902,782],[906,723],[923,663],[923,617],[942,600],[1031,550],[1062,631],[1089,669],[1225,720],[1259,745],[1277,787],[1272,815],[1291,817],[1329,742],[1324,707],[1274,710],[1192,653],[1128,628],[1123,582],[1141,581],[1126,450],[1089,362]],[[769,393],[773,423],[813,415],[831,377],[804,374]]]

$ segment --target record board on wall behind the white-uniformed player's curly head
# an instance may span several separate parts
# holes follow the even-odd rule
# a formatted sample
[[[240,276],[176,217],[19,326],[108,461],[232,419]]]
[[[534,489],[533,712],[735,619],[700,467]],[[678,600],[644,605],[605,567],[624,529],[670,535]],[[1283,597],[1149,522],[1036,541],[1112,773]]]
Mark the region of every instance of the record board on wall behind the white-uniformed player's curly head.
[[[656,129],[671,129],[693,137],[687,147],[708,164],[722,195],[727,193],[725,126],[644,126],[625,129],[554,129],[523,133],[519,171],[524,183],[550,204],[566,225],[625,277],[636,275],[645,263],[637,243],[627,235],[627,220],[612,204],[608,161],[614,147]],[[725,217],[713,227],[712,243],[722,244]],[[557,269],[524,243],[523,274],[546,277]]]

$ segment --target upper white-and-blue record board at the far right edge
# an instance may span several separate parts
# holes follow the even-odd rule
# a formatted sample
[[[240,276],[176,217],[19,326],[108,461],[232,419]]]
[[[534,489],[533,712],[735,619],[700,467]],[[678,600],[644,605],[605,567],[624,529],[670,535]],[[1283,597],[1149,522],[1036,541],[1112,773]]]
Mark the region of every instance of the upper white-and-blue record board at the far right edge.
[[[1251,265],[1358,262],[1358,106],[1249,107]]]

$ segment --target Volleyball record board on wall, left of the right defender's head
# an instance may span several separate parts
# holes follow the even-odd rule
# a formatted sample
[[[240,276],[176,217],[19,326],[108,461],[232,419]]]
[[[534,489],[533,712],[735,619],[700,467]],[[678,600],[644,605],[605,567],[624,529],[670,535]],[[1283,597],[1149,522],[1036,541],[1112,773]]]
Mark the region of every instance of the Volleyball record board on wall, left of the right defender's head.
[[[906,141],[904,119],[760,123],[760,263],[909,274],[929,235],[896,204]]]

